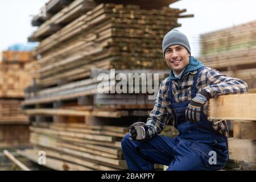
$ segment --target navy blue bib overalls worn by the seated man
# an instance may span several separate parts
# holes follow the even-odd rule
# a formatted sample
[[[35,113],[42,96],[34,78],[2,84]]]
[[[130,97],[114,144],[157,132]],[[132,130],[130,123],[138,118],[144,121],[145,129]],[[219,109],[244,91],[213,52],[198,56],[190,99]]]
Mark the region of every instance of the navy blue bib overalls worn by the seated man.
[[[202,67],[203,68],[203,67]],[[199,68],[191,87],[191,97],[195,97]],[[170,80],[171,81],[171,80]],[[170,83],[169,97],[174,126],[179,131],[176,138],[156,135],[150,140],[139,142],[130,140],[129,134],[122,139],[122,151],[130,170],[154,170],[154,164],[169,166],[167,170],[217,170],[228,160],[227,138],[215,131],[212,123],[201,111],[200,121],[192,123],[185,118],[185,110],[190,101],[177,103]]]

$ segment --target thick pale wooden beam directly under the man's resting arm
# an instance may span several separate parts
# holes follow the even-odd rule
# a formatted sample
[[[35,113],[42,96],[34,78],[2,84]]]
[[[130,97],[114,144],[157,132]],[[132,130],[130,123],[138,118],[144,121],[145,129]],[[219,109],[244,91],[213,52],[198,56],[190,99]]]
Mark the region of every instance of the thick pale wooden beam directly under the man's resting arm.
[[[209,101],[209,119],[256,121],[256,94],[220,96]]]

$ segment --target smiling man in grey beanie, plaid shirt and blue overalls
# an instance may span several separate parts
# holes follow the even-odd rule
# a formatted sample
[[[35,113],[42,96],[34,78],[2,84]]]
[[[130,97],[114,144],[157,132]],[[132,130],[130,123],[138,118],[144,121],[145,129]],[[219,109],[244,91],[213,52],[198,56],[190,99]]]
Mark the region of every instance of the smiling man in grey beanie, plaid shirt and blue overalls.
[[[158,97],[145,123],[146,138],[137,133],[122,139],[122,150],[130,170],[217,170],[228,160],[228,127],[225,121],[209,121],[208,101],[224,94],[247,92],[247,84],[205,67],[191,56],[187,37],[177,30],[164,36],[163,55],[171,68],[160,84]],[[168,122],[176,127],[176,138],[158,135]]]

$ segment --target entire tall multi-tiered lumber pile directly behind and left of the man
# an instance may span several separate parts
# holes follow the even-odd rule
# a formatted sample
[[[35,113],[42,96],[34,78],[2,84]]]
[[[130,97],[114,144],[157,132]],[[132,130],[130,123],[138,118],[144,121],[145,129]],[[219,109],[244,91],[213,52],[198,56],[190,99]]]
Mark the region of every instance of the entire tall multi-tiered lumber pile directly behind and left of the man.
[[[146,121],[154,100],[147,93],[112,93],[115,76],[158,73],[153,81],[160,83],[168,75],[163,36],[180,26],[177,18],[192,16],[170,9],[173,2],[49,1],[46,16],[32,19],[39,27],[28,38],[40,42],[33,51],[39,69],[22,104],[34,148],[19,154],[37,162],[45,151],[46,166],[57,170],[127,169],[120,141],[131,123]],[[98,90],[101,73],[108,83],[104,93]],[[135,82],[126,86],[133,89]],[[168,126],[163,134],[176,131]]]

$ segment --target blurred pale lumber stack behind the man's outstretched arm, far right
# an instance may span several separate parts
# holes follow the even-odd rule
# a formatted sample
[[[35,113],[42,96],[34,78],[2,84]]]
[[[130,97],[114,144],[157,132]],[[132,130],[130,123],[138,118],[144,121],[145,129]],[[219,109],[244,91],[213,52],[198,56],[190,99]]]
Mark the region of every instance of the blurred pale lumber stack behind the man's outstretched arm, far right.
[[[201,35],[201,60],[256,88],[256,21]]]

